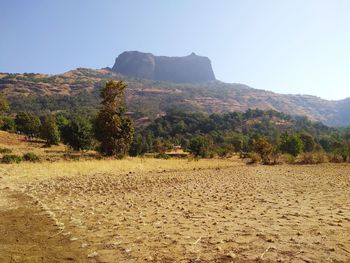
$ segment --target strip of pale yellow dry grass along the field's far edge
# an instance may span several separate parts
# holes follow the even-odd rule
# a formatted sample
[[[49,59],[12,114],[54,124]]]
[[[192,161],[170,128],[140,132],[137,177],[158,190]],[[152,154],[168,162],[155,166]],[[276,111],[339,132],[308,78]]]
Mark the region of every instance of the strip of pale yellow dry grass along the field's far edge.
[[[238,159],[190,161],[187,159],[125,158],[122,160],[57,161],[42,163],[0,164],[0,174],[18,180],[48,179],[51,177],[125,174],[135,172],[190,171],[220,169],[243,165]]]

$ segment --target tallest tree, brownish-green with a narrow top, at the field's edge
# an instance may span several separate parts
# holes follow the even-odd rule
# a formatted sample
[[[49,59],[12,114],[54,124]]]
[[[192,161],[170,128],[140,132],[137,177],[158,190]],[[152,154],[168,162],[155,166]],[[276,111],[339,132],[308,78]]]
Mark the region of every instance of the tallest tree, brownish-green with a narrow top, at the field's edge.
[[[112,80],[101,91],[102,108],[95,120],[95,137],[102,154],[122,157],[133,140],[133,124],[125,116],[122,100],[126,87],[125,82]]]

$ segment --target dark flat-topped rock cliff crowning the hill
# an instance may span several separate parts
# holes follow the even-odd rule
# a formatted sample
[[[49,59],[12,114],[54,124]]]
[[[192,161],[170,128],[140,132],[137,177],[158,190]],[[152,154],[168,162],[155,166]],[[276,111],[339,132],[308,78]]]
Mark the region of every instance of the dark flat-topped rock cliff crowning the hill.
[[[165,57],[128,51],[116,58],[112,70],[129,77],[175,83],[215,80],[209,58],[194,53],[185,57]]]

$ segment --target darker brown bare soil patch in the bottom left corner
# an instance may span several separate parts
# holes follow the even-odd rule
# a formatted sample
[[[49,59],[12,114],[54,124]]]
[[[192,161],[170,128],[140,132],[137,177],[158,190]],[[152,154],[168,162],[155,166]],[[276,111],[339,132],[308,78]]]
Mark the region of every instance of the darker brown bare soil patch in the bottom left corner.
[[[93,262],[69,235],[62,233],[30,197],[6,188],[1,190],[1,263]]]

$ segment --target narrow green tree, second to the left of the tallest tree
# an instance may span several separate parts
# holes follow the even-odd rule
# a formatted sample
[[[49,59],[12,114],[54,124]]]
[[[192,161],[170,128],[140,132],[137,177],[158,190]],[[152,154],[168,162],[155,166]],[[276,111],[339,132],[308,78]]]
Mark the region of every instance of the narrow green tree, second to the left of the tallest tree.
[[[41,125],[41,138],[46,140],[46,145],[57,145],[60,141],[60,131],[54,115],[45,116]]]

